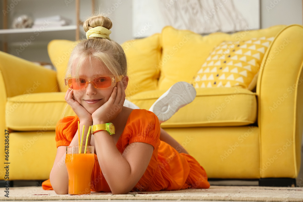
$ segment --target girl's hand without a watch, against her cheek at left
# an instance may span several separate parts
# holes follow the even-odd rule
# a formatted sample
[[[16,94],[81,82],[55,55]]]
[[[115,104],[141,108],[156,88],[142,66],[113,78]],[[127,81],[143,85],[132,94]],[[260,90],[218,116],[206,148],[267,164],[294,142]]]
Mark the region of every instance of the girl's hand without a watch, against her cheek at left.
[[[79,117],[80,122],[82,121],[92,122],[92,115],[74,99],[73,90],[68,89],[64,99],[69,104],[69,106],[72,107],[76,115]]]

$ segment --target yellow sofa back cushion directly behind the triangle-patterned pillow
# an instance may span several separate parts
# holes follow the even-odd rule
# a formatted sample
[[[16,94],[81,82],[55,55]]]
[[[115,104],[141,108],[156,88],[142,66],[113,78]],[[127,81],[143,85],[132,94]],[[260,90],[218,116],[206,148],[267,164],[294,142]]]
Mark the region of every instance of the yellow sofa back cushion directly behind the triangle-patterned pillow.
[[[178,81],[191,82],[205,63],[209,53],[222,41],[246,41],[251,38],[275,37],[286,25],[276,25],[266,29],[245,30],[234,34],[221,32],[201,36],[188,30],[177,30],[171,26],[162,29],[160,45],[161,75],[158,89],[167,90]]]

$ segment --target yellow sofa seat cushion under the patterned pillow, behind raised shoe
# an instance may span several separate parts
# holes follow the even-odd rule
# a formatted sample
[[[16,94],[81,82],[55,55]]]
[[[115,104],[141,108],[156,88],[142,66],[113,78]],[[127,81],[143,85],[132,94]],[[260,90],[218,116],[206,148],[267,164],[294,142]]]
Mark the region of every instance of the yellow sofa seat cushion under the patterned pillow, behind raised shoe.
[[[239,86],[199,88],[196,98],[182,107],[161,127],[238,126],[256,121],[256,94]],[[128,99],[141,109],[149,109],[165,90],[137,93]],[[186,92],[183,93],[186,96]]]

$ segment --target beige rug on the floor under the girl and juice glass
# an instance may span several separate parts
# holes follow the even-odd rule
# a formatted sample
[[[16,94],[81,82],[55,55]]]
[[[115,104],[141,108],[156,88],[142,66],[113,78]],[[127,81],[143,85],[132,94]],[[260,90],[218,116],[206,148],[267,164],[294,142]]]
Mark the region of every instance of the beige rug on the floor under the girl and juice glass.
[[[232,200],[232,201],[303,201],[301,187],[258,187],[258,186],[210,186],[209,189],[185,189],[178,191],[129,192],[113,195],[91,192],[87,196],[57,195],[42,187],[0,188],[0,200]]]

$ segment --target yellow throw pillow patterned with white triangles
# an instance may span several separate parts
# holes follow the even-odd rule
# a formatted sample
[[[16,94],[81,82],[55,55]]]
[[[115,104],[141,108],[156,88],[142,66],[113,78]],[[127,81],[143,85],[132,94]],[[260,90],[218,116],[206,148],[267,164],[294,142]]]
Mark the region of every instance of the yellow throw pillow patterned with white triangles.
[[[266,49],[274,37],[223,41],[213,49],[192,84],[195,88],[241,86],[252,90]]]

